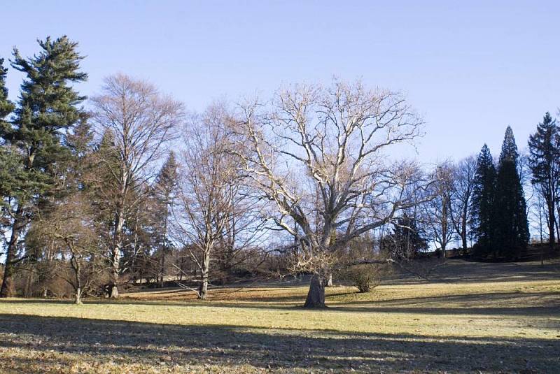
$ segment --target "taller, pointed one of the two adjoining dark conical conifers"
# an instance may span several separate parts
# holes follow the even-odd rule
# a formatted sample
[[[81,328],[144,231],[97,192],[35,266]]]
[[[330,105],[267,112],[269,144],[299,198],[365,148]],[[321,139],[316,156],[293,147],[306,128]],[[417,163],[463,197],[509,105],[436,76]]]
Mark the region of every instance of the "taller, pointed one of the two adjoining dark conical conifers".
[[[496,245],[498,255],[519,258],[529,240],[527,207],[517,168],[519,154],[511,127],[505,130],[496,177]]]

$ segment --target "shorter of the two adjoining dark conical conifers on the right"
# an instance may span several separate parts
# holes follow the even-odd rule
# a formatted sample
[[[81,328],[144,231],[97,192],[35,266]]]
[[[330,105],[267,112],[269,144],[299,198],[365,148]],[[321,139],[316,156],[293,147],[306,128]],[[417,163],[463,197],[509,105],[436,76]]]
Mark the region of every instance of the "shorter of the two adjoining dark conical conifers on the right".
[[[496,168],[488,145],[484,144],[477,159],[471,206],[471,226],[477,257],[487,256],[496,248],[495,201]]]

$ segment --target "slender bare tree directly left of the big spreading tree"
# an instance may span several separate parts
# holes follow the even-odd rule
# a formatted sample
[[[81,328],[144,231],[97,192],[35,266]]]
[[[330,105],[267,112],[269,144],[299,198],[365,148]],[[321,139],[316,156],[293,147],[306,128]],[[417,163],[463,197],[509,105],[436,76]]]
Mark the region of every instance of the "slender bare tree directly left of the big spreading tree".
[[[228,152],[228,122],[223,106],[193,115],[183,135],[176,238],[187,248],[199,269],[197,294],[206,299],[211,257],[223,239],[237,194],[237,168]]]

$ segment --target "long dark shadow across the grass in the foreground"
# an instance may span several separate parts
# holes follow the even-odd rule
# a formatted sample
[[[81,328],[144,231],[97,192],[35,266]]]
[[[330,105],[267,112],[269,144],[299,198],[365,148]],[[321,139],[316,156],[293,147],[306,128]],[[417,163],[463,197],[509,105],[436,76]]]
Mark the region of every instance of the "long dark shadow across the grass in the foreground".
[[[312,371],[505,371],[560,367],[558,339],[498,339],[175,325],[69,317],[0,315],[3,358],[28,350],[42,372],[62,364],[52,352],[117,365],[214,364]],[[85,355],[84,355],[85,354]],[[8,357],[9,358],[9,357]],[[26,359],[10,368],[29,369]],[[0,368],[7,361],[0,360]],[[143,366],[144,367],[144,366]],[[125,369],[123,369],[125,370]]]

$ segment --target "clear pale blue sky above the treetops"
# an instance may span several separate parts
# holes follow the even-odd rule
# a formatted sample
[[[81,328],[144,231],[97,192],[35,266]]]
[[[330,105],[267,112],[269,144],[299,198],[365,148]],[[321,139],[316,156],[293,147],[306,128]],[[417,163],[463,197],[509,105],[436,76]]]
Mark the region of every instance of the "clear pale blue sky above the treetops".
[[[0,57],[68,35],[91,95],[118,71],[191,110],[332,75],[402,90],[426,120],[419,158],[519,148],[560,106],[560,1],[2,1]],[[21,75],[10,69],[15,99]]]

